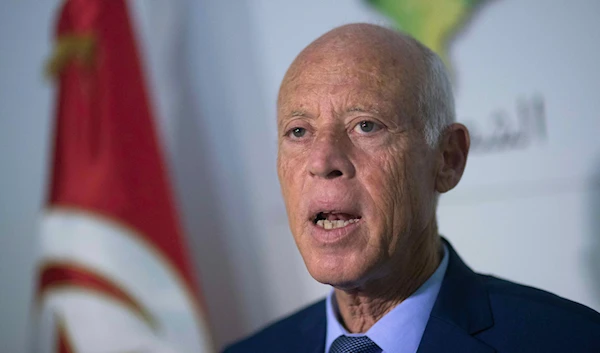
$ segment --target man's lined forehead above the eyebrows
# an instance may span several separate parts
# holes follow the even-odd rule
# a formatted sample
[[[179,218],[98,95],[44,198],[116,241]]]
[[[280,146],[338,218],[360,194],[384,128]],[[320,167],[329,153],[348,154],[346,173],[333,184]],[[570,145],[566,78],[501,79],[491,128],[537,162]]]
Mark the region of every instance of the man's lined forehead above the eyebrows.
[[[314,109],[321,103],[382,114],[416,108],[418,82],[401,58],[359,51],[299,59],[282,82],[280,115]]]

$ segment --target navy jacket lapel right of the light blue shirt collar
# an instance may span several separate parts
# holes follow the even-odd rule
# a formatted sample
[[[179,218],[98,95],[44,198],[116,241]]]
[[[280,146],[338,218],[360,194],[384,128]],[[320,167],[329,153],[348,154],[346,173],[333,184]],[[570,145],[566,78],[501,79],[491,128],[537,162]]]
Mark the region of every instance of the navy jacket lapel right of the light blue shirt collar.
[[[450,243],[444,242],[448,268],[417,352],[494,352],[473,337],[494,324],[487,290]]]

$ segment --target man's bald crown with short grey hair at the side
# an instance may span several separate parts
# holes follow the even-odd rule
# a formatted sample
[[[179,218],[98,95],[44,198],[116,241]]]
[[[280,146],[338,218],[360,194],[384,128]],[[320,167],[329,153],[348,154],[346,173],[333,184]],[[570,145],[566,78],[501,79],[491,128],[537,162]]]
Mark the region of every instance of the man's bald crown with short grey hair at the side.
[[[306,80],[337,79],[340,85],[369,80],[394,100],[397,114],[413,119],[434,146],[455,120],[450,80],[441,59],[414,38],[371,24],[335,28],[308,45],[281,84],[282,99]],[[334,82],[335,83],[335,82]]]

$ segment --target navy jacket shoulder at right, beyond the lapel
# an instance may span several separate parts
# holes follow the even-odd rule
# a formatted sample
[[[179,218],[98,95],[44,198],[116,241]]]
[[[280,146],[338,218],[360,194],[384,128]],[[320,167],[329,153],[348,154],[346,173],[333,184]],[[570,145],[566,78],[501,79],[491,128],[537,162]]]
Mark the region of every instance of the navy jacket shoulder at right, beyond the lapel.
[[[520,342],[600,348],[600,314],[555,294],[493,276],[479,275],[485,284],[494,326],[482,336],[510,332]],[[527,344],[527,343],[524,343]],[[586,350],[582,350],[586,351]]]

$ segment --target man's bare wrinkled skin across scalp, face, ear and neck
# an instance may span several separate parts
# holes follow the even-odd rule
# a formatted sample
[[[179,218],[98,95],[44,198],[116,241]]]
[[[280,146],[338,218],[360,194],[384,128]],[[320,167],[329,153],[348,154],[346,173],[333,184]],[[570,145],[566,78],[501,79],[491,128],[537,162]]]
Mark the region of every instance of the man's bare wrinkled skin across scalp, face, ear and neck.
[[[336,288],[352,332],[365,332],[437,268],[437,193],[458,183],[466,161],[460,124],[438,149],[425,141],[415,117],[419,55],[397,33],[344,26],[296,58],[279,93],[277,167],[290,228],[310,274]],[[315,210],[360,222],[323,241]]]

